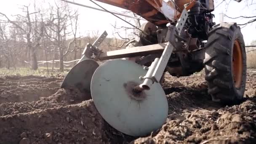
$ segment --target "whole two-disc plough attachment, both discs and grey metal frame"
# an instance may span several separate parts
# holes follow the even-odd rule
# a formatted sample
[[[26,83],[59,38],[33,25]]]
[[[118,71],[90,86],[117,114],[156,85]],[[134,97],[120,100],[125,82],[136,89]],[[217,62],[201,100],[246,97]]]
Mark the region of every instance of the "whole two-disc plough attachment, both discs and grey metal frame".
[[[105,31],[93,45],[86,45],[82,58],[70,70],[62,86],[82,84],[80,90],[91,92],[101,116],[120,132],[143,136],[160,128],[168,115],[160,79],[173,50],[179,50],[179,34],[187,16],[184,9],[176,26],[168,26],[167,43],[102,52],[98,47],[107,36]],[[149,55],[156,56],[150,59],[153,60],[150,67],[122,59]],[[110,61],[100,66],[96,63],[104,60]]]

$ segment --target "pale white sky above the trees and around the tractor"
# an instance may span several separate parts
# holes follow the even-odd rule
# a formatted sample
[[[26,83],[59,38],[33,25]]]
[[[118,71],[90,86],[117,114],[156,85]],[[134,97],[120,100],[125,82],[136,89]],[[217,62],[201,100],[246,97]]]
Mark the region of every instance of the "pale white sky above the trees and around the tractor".
[[[39,5],[48,5],[48,2],[53,0],[35,0]],[[56,0],[58,1],[58,0]],[[93,7],[98,8],[96,5],[91,3],[89,0],[71,0],[76,3],[81,3],[84,5],[90,5]],[[28,5],[31,3],[31,11],[33,11],[33,2],[34,0],[0,0],[0,12],[6,13],[8,16],[11,17],[13,14],[21,13],[21,9],[19,9],[19,5]],[[219,5],[222,0],[215,0],[215,6]],[[228,0],[229,2],[229,0]],[[217,6],[213,14],[215,14],[214,21],[218,24],[220,20],[220,14],[219,13],[226,13],[230,17],[237,17],[237,16],[255,16],[256,15],[256,6],[253,7],[247,7],[245,0],[243,0],[241,3],[237,3],[236,1],[231,1],[229,5],[227,5],[226,1],[221,3],[221,5]],[[97,2],[99,3],[99,2]],[[107,5],[104,3],[99,3],[100,5],[104,6],[104,8],[111,10],[111,11],[117,11],[122,12],[125,11],[121,8],[116,8],[111,5]],[[109,34],[109,36],[112,35],[114,29],[111,26],[111,24],[117,24],[117,26],[129,26],[128,24],[124,23],[123,21],[115,18],[109,13],[105,13],[102,11],[96,11],[89,8],[83,8],[76,5],[70,4],[73,8],[78,8],[80,13],[80,21],[79,21],[79,27],[80,27],[80,33],[81,35],[85,35],[85,32],[87,31],[94,31],[99,30],[99,32],[103,32],[106,30]],[[133,21],[133,20],[129,20]],[[226,22],[237,22],[238,24],[242,24],[247,22],[247,19],[228,19],[225,18],[224,21]],[[141,21],[141,23],[146,21]],[[243,27],[243,26],[241,26]],[[246,27],[242,28],[242,33],[245,39],[245,43],[249,44],[252,40],[256,40],[256,23],[254,24],[248,24]]]

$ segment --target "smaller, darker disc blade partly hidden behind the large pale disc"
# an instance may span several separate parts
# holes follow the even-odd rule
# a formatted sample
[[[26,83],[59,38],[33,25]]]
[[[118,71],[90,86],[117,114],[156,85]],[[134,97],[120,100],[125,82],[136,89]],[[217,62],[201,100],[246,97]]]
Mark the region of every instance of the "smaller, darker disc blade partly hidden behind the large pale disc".
[[[77,63],[64,78],[61,88],[77,88],[82,93],[90,94],[91,79],[99,64],[92,59],[85,59]],[[88,96],[91,99],[91,95]]]

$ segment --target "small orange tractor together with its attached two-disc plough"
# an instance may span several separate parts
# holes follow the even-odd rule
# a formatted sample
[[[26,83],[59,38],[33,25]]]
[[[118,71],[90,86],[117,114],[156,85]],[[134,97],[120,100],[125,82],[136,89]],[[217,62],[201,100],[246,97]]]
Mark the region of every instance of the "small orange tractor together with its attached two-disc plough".
[[[213,0],[96,1],[132,11],[147,23],[124,49],[99,49],[106,31],[87,44],[61,88],[90,93],[96,109],[117,131],[145,136],[162,127],[168,117],[161,86],[165,72],[182,77],[204,68],[213,101],[232,104],[243,99],[243,35],[236,23],[213,22]]]

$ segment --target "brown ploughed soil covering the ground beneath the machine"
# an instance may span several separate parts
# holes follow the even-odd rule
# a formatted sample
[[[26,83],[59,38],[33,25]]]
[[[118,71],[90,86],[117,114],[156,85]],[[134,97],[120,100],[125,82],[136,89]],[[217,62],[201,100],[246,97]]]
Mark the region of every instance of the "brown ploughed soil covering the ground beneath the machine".
[[[138,138],[109,126],[88,94],[60,89],[63,77],[0,77],[0,144],[256,144],[256,72],[248,69],[245,98],[211,101],[204,72],[165,76],[168,119]]]

